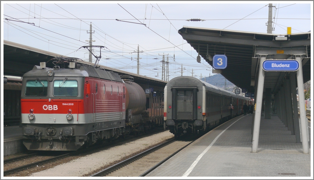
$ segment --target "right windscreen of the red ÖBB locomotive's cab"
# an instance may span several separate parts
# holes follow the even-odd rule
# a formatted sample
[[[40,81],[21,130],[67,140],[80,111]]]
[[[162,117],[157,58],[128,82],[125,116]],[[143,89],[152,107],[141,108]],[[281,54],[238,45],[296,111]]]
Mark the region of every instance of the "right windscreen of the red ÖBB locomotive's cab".
[[[76,80],[55,80],[53,82],[54,96],[78,96],[78,82]]]

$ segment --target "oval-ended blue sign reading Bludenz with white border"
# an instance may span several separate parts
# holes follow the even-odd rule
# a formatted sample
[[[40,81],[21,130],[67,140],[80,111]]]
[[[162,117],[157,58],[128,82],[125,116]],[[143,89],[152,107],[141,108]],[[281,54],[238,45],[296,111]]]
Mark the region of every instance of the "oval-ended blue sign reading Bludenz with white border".
[[[297,60],[265,60],[263,62],[265,71],[296,71],[299,69]]]

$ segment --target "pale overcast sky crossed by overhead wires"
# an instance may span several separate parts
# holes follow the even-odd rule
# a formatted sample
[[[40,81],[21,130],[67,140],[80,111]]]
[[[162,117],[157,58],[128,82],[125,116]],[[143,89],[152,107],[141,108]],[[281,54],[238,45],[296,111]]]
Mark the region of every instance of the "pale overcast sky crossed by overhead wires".
[[[273,3],[274,34],[286,34],[287,27],[292,27],[292,33],[313,27],[310,1],[1,3],[3,40],[88,60],[88,51],[78,49],[88,45],[85,40],[89,40],[87,31],[92,23],[93,45],[106,47],[101,50],[99,64],[137,73],[135,51],[139,45],[143,51],[140,74],[161,79],[162,54],[169,54],[169,80],[181,76],[181,64],[184,76],[191,76],[193,69],[194,76],[200,78],[212,70],[204,59],[202,64],[196,62],[198,54],[178,33],[183,26],[266,33],[268,3]],[[186,21],[193,18],[204,21]],[[99,48],[95,53],[99,55]]]

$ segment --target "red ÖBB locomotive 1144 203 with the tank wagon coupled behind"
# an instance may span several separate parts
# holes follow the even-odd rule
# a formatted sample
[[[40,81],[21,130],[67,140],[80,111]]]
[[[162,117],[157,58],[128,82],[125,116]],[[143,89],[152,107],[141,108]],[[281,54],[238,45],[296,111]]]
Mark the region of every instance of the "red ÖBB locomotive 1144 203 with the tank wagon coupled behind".
[[[23,76],[21,119],[29,150],[77,150],[96,141],[147,130],[146,95],[114,72],[58,59]],[[163,117],[161,117],[163,118]]]

